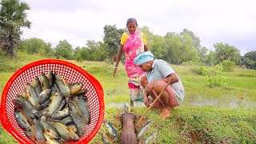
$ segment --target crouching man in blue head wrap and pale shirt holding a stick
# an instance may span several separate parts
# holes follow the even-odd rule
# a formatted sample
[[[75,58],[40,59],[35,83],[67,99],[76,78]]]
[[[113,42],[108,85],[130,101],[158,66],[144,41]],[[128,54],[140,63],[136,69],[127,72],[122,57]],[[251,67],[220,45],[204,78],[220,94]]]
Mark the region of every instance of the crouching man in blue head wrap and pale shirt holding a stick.
[[[153,106],[155,109],[162,110],[161,118],[168,117],[170,108],[179,106],[184,99],[184,87],[178,75],[167,62],[162,59],[154,59],[154,55],[150,51],[139,54],[134,58],[134,64],[146,72],[146,75],[142,77],[141,83],[145,89],[144,102],[147,107],[161,93],[170,78],[173,78],[170,85],[163,91],[161,98]],[[149,96],[153,101],[150,101]]]

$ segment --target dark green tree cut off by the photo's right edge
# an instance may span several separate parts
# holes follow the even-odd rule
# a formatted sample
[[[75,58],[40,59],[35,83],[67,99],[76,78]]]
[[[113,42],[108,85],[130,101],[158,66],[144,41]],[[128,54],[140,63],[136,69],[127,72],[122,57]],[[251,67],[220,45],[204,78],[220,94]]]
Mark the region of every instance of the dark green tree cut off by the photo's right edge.
[[[256,51],[244,55],[244,63],[248,69],[256,69]]]

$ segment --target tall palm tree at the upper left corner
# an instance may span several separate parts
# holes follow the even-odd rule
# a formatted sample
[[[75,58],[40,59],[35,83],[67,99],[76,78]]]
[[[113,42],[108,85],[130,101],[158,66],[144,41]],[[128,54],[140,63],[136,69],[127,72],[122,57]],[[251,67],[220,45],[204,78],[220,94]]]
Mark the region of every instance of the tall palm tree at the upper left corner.
[[[7,54],[14,56],[14,45],[22,34],[21,27],[30,28],[31,25],[25,12],[30,6],[19,0],[1,0],[0,4],[0,44]]]

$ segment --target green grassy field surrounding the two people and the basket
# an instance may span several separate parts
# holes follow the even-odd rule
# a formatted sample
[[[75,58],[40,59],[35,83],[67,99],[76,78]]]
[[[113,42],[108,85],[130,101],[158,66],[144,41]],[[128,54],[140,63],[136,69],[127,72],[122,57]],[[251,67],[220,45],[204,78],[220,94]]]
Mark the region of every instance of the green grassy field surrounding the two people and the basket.
[[[25,57],[21,61],[6,60],[8,66],[0,72],[0,87],[5,86],[14,71],[29,62],[42,59],[39,56]],[[19,57],[20,58],[20,57]],[[129,102],[126,71],[120,63],[117,78],[112,76],[114,64],[105,62],[74,62],[84,68],[89,74],[101,82],[105,104],[111,102]],[[10,69],[9,69],[10,67]],[[172,66],[182,79],[185,87],[185,99],[181,106],[172,110],[170,118],[159,118],[160,111],[150,110],[146,119],[153,125],[142,139],[145,140],[154,130],[158,131],[158,143],[256,143],[256,70],[236,68],[233,72],[225,72],[227,86],[210,88],[206,86],[206,76],[198,74],[200,66]],[[251,106],[249,106],[251,105]],[[146,107],[133,108],[138,118],[145,112]],[[122,123],[120,120],[123,110],[113,106],[106,107],[105,122],[112,122],[118,130],[118,138],[113,139],[102,123],[101,131],[109,135],[112,143],[119,143]],[[141,124],[141,125],[142,125]],[[140,125],[140,126],[141,126]],[[100,143],[101,136],[97,134],[90,143]],[[0,126],[0,143],[17,143],[10,134]]]

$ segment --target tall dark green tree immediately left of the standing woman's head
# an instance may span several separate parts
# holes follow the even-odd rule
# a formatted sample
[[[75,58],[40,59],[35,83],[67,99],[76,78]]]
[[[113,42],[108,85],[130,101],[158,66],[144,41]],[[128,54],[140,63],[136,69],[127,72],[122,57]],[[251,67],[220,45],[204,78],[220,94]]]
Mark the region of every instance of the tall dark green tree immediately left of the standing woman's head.
[[[116,60],[116,54],[118,54],[118,49],[120,46],[120,41],[121,41],[121,36],[124,30],[122,29],[117,29],[117,27],[106,25],[104,26],[104,37],[103,41],[107,44],[108,46],[108,51],[110,57],[112,57],[112,61],[114,62]]]

